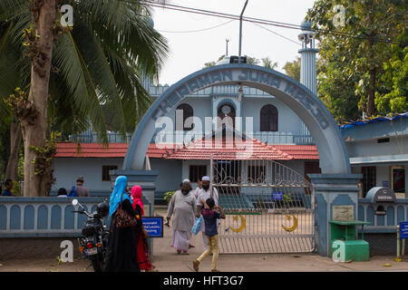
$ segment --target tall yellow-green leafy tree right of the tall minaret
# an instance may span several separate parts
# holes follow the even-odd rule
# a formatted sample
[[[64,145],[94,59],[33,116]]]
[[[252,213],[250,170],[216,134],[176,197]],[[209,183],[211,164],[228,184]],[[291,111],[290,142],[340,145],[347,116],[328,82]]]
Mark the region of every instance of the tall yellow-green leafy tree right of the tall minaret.
[[[345,25],[335,27],[335,5],[345,7]],[[392,45],[387,40],[401,34],[401,24],[406,24],[406,2],[318,0],[307,12],[306,18],[311,20],[314,29],[354,35],[317,34],[321,40],[320,57],[327,64],[319,75],[319,96],[323,96],[326,104],[334,102],[331,106],[342,111],[339,118],[348,119],[357,115],[352,113],[357,111],[355,98],[358,99],[360,111],[368,116],[374,115],[376,95],[391,89],[384,87],[382,82],[384,63],[392,54]],[[346,110],[338,108],[345,102]]]

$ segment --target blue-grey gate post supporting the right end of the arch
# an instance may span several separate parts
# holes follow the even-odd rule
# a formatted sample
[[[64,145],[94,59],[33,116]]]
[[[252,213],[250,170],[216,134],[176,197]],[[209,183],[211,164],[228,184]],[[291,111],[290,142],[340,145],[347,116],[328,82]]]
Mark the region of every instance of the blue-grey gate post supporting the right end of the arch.
[[[343,211],[345,219],[358,217],[358,182],[362,174],[308,174],[316,194],[316,247],[321,256],[330,256],[329,220],[341,213],[334,207],[352,206],[351,212]],[[342,217],[340,217],[342,218]]]

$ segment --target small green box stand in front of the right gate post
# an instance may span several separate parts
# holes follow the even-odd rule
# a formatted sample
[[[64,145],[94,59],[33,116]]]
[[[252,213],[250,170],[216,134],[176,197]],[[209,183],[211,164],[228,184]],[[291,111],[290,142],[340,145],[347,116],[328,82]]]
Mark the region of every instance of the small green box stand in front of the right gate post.
[[[344,261],[368,261],[370,258],[369,244],[364,241],[364,225],[371,225],[369,222],[350,220],[339,221],[330,220],[330,256],[339,245],[344,247]],[[362,238],[357,239],[357,226],[362,226]],[[335,243],[335,241],[337,241]],[[335,244],[335,245],[334,245]]]

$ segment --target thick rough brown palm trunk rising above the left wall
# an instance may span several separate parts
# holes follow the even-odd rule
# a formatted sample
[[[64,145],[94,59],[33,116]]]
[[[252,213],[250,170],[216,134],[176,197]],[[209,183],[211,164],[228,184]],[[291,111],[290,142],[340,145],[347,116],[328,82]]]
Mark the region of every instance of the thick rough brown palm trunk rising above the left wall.
[[[24,197],[46,195],[42,179],[44,175],[35,174],[37,153],[30,147],[42,148],[45,145],[46,110],[51,60],[53,55],[56,0],[32,0],[31,12],[36,28],[36,40],[30,47],[31,87],[28,102],[34,106],[35,121],[21,120],[24,139]]]

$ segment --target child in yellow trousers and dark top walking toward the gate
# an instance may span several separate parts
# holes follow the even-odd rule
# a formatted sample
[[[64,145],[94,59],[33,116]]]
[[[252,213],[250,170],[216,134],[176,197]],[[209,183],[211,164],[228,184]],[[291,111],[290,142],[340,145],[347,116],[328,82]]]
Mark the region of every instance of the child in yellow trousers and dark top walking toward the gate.
[[[202,210],[202,218],[204,218],[205,234],[207,236],[207,250],[193,261],[193,268],[199,272],[199,263],[212,252],[211,272],[219,272],[217,270],[217,260],[219,259],[219,232],[217,229],[217,219],[225,219],[225,214],[222,208],[215,205],[213,198],[205,201],[205,208]],[[214,209],[219,208],[220,214]]]

